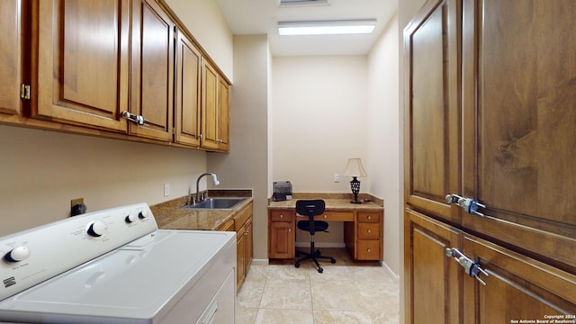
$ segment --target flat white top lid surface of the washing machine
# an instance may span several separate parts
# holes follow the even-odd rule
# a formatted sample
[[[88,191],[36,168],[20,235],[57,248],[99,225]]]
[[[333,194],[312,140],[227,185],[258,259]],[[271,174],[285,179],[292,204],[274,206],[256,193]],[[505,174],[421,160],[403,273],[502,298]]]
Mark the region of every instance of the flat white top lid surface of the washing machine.
[[[151,322],[235,238],[234,232],[157,230],[0,302],[0,320],[64,322],[79,315],[91,319],[74,321]]]

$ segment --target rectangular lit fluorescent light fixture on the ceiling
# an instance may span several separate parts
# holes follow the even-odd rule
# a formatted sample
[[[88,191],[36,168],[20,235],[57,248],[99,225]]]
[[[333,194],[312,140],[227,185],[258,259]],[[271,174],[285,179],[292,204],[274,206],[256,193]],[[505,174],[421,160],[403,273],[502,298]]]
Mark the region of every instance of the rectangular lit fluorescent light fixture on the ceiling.
[[[280,35],[333,35],[370,33],[376,26],[375,19],[323,21],[323,22],[280,22]]]

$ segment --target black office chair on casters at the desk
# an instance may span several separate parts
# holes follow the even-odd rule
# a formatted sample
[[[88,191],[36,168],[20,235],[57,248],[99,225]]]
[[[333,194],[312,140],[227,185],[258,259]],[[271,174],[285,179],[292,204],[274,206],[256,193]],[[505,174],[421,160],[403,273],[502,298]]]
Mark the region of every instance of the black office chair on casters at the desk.
[[[321,215],[326,208],[326,203],[323,200],[299,200],[296,202],[296,212],[302,216],[308,216],[308,220],[298,221],[298,229],[306,230],[310,232],[311,242],[310,242],[310,253],[296,251],[296,257],[301,254],[306,256],[302,257],[294,263],[295,267],[300,267],[300,263],[304,260],[312,259],[316,266],[318,267],[318,272],[321,274],[324,269],[318,263],[318,259],[328,259],[331,263],[336,263],[334,257],[326,257],[320,255],[320,250],[314,247],[314,233],[317,231],[326,231],[328,229],[328,222],[324,220],[314,220],[315,216]]]

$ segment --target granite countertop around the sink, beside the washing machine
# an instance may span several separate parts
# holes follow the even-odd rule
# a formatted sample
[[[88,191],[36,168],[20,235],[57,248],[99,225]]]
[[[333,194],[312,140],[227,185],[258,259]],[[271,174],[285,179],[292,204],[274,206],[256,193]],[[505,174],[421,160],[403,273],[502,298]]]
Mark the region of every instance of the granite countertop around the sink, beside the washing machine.
[[[159,229],[215,230],[252,202],[252,197],[242,194],[209,193],[209,198],[214,197],[246,197],[246,200],[227,210],[182,209],[188,203],[188,197],[182,197],[150,206],[150,210]]]

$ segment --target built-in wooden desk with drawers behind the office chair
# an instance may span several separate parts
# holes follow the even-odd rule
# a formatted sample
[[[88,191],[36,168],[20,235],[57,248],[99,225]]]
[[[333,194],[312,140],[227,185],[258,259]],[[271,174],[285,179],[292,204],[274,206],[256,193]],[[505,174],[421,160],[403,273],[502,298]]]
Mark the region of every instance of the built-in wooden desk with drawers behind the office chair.
[[[321,198],[302,198],[321,199]],[[268,258],[293,259],[295,255],[296,200],[268,203]],[[349,199],[324,199],[326,211],[319,220],[343,221],[344,241],[355,260],[383,260],[383,206]]]

